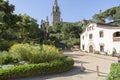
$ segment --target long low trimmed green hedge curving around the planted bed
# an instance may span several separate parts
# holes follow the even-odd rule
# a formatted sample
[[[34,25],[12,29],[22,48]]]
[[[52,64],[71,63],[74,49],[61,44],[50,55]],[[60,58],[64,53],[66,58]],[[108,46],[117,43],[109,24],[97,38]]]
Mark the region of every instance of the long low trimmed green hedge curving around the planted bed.
[[[49,63],[20,65],[0,69],[0,80],[64,72],[70,70],[73,65],[74,61],[72,58],[64,57]]]

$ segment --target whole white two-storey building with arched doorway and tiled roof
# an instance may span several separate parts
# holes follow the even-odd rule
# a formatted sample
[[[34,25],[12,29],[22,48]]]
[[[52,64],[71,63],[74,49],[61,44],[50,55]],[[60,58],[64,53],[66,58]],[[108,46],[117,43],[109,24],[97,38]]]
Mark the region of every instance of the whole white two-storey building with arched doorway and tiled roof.
[[[82,51],[112,54],[113,50],[120,53],[120,27],[90,23],[80,35],[80,48]]]

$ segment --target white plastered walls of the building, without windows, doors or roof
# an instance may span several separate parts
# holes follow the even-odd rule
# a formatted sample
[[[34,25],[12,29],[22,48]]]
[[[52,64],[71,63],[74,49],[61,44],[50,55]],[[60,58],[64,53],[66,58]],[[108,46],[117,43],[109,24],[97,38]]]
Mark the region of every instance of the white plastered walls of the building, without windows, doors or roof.
[[[87,28],[90,26],[94,26],[92,30],[88,31]],[[113,33],[120,31],[120,29],[107,29],[107,28],[102,28],[102,27],[97,27],[97,24],[93,23],[90,24],[80,36],[81,39],[81,50],[82,45],[85,45],[85,50],[89,52],[89,45],[92,44],[94,46],[95,51],[100,51],[100,44],[104,45],[104,51],[108,52],[109,54],[112,54],[113,48],[117,50],[117,52],[120,52],[120,41],[119,42],[113,42]],[[104,36],[103,38],[100,38],[99,32],[103,31]],[[89,34],[93,35],[93,39],[89,39]],[[84,36],[84,39],[83,39]]]

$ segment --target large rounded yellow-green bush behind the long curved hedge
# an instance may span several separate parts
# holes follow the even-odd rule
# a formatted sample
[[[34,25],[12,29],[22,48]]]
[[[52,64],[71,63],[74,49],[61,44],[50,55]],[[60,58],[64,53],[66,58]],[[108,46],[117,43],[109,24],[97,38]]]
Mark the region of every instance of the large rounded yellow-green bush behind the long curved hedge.
[[[60,56],[59,50],[50,45],[15,44],[9,52],[15,53],[19,61],[30,63],[50,62]]]

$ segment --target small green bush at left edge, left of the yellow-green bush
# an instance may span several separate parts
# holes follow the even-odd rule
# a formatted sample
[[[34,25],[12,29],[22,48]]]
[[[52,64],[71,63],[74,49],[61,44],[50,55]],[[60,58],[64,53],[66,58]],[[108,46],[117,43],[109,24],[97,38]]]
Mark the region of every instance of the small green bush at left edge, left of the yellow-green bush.
[[[0,52],[0,65],[14,62],[14,56],[7,51]]]

